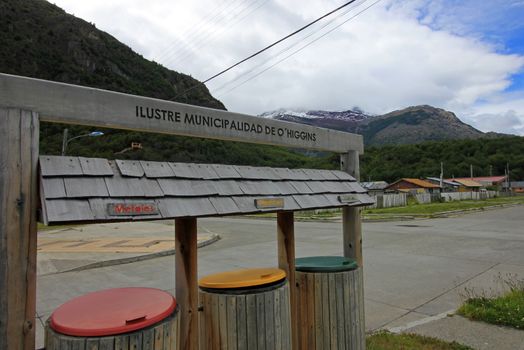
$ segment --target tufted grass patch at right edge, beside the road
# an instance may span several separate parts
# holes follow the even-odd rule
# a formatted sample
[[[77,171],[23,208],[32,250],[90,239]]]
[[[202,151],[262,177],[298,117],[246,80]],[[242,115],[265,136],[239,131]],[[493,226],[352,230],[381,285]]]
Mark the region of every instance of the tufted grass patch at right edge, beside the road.
[[[524,329],[524,280],[503,281],[509,291],[502,296],[474,295],[473,291],[458,313],[472,320]],[[473,294],[473,295],[471,295]]]

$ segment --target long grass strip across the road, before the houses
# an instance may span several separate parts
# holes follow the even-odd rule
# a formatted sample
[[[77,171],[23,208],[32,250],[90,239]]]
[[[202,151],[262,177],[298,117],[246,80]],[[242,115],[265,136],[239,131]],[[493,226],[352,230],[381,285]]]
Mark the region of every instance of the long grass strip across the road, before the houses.
[[[406,207],[366,209],[365,214],[432,215],[445,211],[479,209],[501,204],[524,204],[524,196],[498,197],[486,200],[452,201],[430,204],[409,204]]]

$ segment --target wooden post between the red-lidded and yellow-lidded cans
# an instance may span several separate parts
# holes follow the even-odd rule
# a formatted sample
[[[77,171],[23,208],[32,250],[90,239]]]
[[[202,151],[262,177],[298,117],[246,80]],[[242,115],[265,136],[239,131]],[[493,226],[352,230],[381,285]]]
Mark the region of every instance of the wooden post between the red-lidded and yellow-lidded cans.
[[[180,349],[198,350],[197,220],[175,220],[176,299]]]

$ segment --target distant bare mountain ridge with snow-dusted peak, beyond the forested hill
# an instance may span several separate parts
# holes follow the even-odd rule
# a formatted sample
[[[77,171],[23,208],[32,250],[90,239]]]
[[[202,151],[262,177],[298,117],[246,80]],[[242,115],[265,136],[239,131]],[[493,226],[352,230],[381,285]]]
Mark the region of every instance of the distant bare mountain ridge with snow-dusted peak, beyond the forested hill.
[[[343,112],[277,110],[261,117],[336,129],[364,136],[366,145],[414,144],[424,141],[474,139],[485,134],[441,108],[412,106],[384,115],[369,115],[358,108]],[[495,135],[491,135],[495,134]]]

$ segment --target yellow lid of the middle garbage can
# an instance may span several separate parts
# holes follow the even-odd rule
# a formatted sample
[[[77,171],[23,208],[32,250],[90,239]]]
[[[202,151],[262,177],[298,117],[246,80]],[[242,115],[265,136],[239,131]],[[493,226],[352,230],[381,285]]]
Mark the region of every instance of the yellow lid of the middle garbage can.
[[[286,272],[277,268],[241,269],[216,273],[201,278],[200,287],[230,289],[262,286],[286,278]]]

